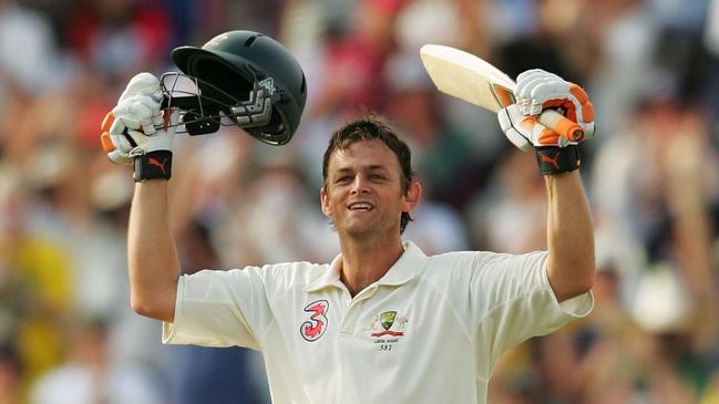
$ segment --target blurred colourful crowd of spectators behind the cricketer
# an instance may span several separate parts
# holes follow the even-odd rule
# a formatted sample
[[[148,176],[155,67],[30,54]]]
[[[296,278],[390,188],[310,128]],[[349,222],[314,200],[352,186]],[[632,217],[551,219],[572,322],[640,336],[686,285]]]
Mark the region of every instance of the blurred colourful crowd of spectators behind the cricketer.
[[[393,122],[424,185],[404,238],[428,253],[546,248],[533,156],[423,71],[419,48],[449,44],[512,76],[555,72],[596,107],[582,168],[595,310],[507,353],[490,402],[719,403],[719,1],[0,0],[0,404],[269,402],[257,353],[162,346],[160,322],[132,313],[131,168],[99,139],[131,76],[235,29],[285,43],[308,102],[280,148],[178,135],[184,271],[331,260],[321,155],[366,113]]]

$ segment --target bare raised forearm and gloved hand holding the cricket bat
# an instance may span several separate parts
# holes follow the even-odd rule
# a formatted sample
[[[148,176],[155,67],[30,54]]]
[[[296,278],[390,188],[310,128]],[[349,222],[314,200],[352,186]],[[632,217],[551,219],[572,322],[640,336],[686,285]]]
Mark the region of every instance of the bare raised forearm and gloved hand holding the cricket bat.
[[[594,107],[576,84],[542,70],[517,77],[516,104],[499,113],[507,138],[520,149],[534,149],[548,197],[547,273],[558,301],[579,296],[594,283],[594,229],[579,176],[579,146],[547,130],[536,116],[557,107],[585,132],[594,135]]]

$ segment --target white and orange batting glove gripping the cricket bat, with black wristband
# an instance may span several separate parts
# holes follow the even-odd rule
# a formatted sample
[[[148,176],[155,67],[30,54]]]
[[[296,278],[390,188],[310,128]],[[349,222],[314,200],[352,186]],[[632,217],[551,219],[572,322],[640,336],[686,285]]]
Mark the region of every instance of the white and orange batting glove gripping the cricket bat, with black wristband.
[[[584,139],[594,136],[594,107],[586,92],[556,74],[530,70],[517,76],[516,104],[497,114],[506,137],[523,152],[535,149],[543,174],[559,174],[579,167],[582,159],[576,142],[561,136],[538,122],[546,108],[555,108],[584,130]]]

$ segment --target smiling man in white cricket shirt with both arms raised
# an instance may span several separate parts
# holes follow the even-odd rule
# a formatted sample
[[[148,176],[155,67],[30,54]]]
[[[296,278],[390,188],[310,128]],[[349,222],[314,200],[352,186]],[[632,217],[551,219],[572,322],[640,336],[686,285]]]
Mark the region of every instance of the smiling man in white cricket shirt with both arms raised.
[[[181,277],[167,178],[135,173],[133,309],[164,321],[165,343],[261,351],[276,403],[484,403],[503,352],[593,305],[594,239],[578,148],[536,121],[544,107],[559,106],[590,136],[592,105],[583,90],[542,71],[520,75],[515,95],[521,106],[502,110],[500,123],[517,147],[536,152],[549,207],[547,251],[428,257],[402,241],[422,194],[411,153],[389,125],[362,117],[332,134],[322,162],[321,208],[341,249],[331,263]],[[160,113],[158,103],[150,106]],[[151,141],[171,145],[173,135],[170,127],[127,133],[137,145],[129,155],[144,155]]]

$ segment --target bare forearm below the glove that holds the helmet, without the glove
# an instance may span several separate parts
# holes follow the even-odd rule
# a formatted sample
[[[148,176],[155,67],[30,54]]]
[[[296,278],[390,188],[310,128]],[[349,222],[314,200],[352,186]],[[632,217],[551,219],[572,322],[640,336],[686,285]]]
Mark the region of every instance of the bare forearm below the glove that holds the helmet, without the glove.
[[[167,182],[137,183],[127,230],[131,304],[142,315],[172,322],[179,265],[168,216]]]

